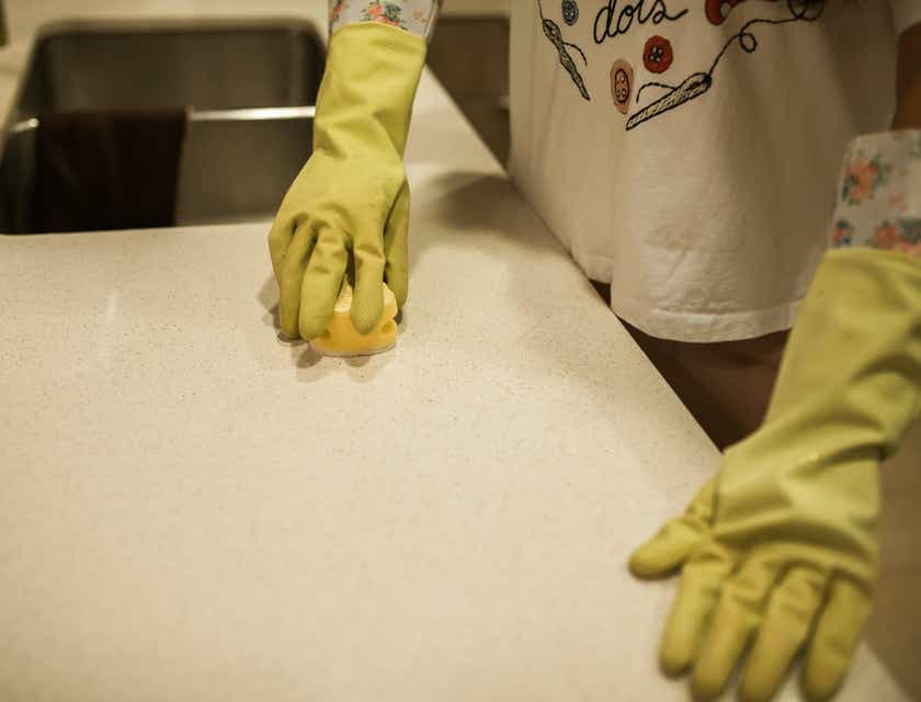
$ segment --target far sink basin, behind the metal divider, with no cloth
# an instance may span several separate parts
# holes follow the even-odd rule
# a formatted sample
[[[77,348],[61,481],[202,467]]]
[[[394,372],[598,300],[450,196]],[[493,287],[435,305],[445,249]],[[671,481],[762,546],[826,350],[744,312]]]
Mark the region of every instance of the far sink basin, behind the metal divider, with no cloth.
[[[304,22],[62,24],[35,45],[14,122],[100,107],[312,105],[322,56]]]

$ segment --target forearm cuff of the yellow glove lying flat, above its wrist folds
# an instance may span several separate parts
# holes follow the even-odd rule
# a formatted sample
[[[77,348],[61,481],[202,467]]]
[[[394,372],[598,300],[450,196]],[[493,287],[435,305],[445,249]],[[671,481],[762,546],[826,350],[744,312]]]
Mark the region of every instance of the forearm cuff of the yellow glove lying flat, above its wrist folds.
[[[921,260],[829,251],[797,316],[765,426],[840,432],[851,449],[888,455],[920,399]]]

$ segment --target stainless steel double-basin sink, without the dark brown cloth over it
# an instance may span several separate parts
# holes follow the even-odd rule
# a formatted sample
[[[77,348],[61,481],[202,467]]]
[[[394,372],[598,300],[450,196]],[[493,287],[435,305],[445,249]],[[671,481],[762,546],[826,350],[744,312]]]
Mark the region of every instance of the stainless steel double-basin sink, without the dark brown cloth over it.
[[[47,29],[4,129],[0,231],[34,230],[36,131],[61,111],[186,110],[177,224],[270,216],[310,154],[323,56],[303,21]]]

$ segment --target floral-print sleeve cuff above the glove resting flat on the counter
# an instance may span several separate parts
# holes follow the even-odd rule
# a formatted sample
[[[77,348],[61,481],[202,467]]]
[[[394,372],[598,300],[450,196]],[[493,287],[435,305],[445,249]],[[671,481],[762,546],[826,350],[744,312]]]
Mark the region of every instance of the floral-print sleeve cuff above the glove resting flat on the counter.
[[[831,246],[921,257],[921,131],[861,136],[844,155]]]

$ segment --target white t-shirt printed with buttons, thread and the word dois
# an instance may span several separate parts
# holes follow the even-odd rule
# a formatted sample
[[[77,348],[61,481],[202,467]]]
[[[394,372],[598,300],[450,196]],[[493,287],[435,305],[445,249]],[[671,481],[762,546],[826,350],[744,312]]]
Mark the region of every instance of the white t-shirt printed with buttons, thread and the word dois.
[[[921,0],[514,0],[511,172],[655,337],[792,326]]]

